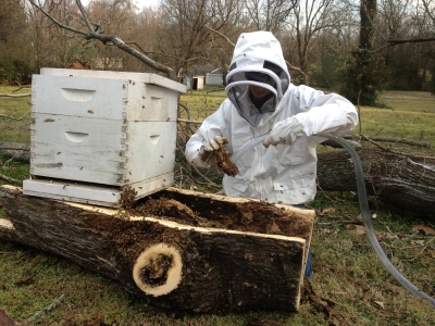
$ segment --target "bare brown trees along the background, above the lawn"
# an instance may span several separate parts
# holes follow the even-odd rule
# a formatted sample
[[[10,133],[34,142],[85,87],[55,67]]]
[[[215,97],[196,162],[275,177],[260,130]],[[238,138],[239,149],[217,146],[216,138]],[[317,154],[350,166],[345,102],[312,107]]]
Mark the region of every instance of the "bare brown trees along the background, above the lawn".
[[[2,0],[0,79],[25,84],[74,61],[225,75],[238,35],[262,29],[281,40],[295,84],[373,105],[384,89],[435,92],[434,13],[435,0]]]

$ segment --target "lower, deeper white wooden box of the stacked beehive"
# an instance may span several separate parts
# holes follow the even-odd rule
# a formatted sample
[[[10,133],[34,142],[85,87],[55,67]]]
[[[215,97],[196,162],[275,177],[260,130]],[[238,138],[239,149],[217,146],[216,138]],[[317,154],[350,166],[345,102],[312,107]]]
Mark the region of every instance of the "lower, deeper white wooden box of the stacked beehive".
[[[30,174],[112,186],[172,172],[176,122],[33,115]]]

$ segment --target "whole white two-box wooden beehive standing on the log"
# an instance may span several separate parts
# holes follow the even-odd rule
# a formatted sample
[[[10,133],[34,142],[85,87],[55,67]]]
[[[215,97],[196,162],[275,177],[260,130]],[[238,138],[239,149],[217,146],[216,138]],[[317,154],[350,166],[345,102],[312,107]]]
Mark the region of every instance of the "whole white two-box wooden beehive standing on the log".
[[[173,184],[178,93],[156,74],[42,68],[32,83],[25,195],[119,206]]]

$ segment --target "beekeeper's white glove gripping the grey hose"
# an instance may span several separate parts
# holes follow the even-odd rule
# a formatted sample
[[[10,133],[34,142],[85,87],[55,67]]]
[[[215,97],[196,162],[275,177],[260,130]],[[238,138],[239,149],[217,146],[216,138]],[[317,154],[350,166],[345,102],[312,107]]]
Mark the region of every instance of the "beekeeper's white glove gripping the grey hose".
[[[295,116],[287,117],[284,121],[277,122],[268,137],[264,139],[264,147],[278,143],[291,145],[295,140],[306,135],[302,125]]]

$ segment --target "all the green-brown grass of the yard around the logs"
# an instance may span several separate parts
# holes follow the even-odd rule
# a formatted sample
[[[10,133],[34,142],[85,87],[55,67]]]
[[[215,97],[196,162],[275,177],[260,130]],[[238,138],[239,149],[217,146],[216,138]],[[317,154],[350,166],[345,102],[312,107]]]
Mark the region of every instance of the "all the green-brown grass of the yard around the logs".
[[[0,87],[0,93],[14,89]],[[189,108],[182,117],[203,120],[224,97],[223,91],[189,91],[181,98],[181,103]],[[435,145],[435,97],[395,91],[382,93],[381,101],[386,108],[361,108],[362,134]],[[12,113],[20,117],[28,110],[29,98],[0,98],[0,124],[9,128],[0,128],[0,141],[28,142],[29,121],[13,125],[2,117]],[[428,153],[434,155],[433,147]],[[25,179],[28,164],[0,156],[0,174]],[[9,183],[0,179],[0,184]],[[0,241],[0,309],[26,322],[63,294],[58,305],[33,325],[223,326],[250,325],[256,318],[277,325],[434,325],[435,310],[403,289],[378,261],[359,222],[352,193],[319,193],[311,208],[318,212],[312,238],[314,275],[310,279],[314,294],[302,298],[298,313],[174,316],[171,311],[156,310],[129,296],[119,283],[73,262],[5,241]],[[412,230],[420,224],[432,228],[435,225],[375,209],[372,213],[376,214],[377,237],[393,263],[415,286],[435,296],[434,236]],[[0,209],[0,218],[5,216]]]

